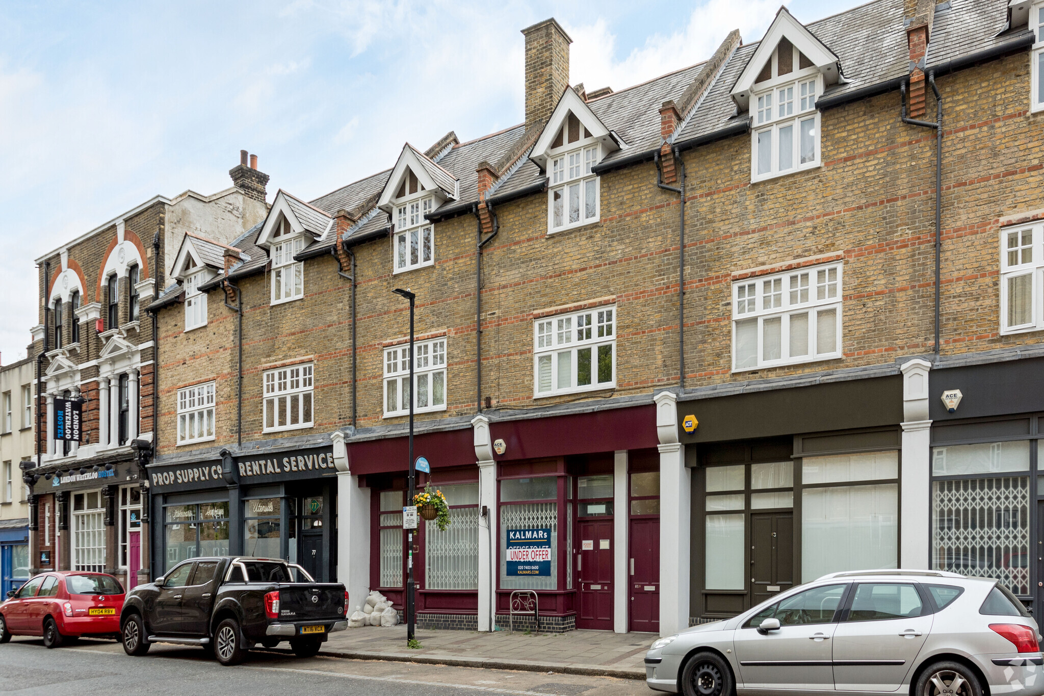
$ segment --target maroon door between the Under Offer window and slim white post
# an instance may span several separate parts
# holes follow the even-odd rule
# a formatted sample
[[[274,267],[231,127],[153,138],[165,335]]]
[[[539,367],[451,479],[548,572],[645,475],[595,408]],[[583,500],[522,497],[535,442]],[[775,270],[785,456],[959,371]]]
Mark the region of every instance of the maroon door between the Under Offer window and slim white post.
[[[613,629],[613,518],[576,525],[579,544],[577,628]]]

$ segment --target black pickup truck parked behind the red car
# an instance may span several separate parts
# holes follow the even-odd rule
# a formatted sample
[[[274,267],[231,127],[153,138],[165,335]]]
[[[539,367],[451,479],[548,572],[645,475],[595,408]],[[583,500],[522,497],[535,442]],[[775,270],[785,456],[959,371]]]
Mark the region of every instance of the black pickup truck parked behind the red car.
[[[127,593],[120,631],[128,655],[145,654],[152,643],[176,643],[201,646],[222,665],[235,665],[257,644],[274,648],[285,640],[298,656],[314,655],[329,633],[348,628],[347,614],[345,585],[315,582],[300,566],[191,558]]]

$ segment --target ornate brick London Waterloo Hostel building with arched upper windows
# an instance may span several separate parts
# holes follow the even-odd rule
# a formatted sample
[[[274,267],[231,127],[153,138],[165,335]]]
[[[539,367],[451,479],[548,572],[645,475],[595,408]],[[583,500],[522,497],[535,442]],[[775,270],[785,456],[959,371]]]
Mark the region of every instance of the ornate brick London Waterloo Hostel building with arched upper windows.
[[[255,189],[267,176],[244,165],[232,170],[230,189],[156,196],[37,260],[37,447],[24,466],[31,572],[105,572],[127,587],[150,577],[143,465],[156,442],[157,340],[145,307],[162,283],[168,239],[200,221],[219,219],[235,234],[264,217],[263,183],[260,196]],[[60,400],[78,404],[78,433],[63,427],[72,422]]]

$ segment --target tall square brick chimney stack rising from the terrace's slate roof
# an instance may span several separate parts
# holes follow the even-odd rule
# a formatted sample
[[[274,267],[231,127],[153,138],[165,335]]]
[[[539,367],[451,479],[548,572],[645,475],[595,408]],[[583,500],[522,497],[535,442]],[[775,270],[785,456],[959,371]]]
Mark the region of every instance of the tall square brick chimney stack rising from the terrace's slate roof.
[[[522,29],[525,35],[525,127],[546,121],[569,87],[569,44],[554,19]]]

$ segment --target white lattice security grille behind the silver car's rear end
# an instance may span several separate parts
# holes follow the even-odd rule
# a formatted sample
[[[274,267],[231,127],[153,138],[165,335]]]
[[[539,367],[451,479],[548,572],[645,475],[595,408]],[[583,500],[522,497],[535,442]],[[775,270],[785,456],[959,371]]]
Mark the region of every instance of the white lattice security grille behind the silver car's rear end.
[[[935,481],[932,565],[1029,594],[1029,479]]]

